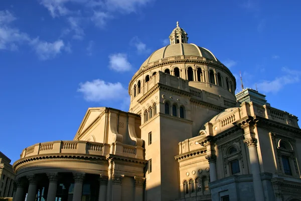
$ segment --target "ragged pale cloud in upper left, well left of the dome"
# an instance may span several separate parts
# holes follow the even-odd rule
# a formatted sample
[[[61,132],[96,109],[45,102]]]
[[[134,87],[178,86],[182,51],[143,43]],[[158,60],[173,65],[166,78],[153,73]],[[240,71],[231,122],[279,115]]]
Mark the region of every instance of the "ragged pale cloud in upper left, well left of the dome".
[[[65,44],[62,40],[49,43],[46,41],[40,41],[39,38],[32,40],[31,45],[34,47],[37,55],[42,60],[54,58],[56,55],[60,54],[65,47]],[[70,48],[67,49],[67,51],[69,50]]]

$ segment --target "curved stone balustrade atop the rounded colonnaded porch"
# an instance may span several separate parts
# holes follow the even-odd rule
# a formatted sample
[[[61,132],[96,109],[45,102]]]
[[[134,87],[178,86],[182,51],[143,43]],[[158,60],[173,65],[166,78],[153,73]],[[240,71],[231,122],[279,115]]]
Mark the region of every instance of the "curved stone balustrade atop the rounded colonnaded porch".
[[[43,154],[91,154],[106,156],[116,154],[143,159],[143,148],[125,144],[105,144],[87,141],[53,141],[38,143],[25,148],[21,158]]]

